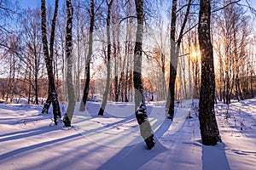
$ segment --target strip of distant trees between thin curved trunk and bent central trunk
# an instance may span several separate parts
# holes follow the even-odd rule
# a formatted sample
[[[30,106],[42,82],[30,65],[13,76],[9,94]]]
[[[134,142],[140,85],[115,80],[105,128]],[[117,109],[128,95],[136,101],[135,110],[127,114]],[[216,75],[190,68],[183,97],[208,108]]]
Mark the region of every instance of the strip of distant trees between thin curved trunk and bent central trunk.
[[[134,99],[133,93],[133,51],[136,32],[134,1],[115,1],[113,10],[113,99],[128,102]],[[124,6],[126,8],[122,8]]]

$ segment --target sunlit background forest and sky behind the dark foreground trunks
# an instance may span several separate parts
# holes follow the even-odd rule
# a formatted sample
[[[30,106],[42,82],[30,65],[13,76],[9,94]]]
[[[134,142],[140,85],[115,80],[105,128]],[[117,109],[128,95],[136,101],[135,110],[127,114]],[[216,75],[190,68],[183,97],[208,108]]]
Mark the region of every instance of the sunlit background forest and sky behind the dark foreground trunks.
[[[75,100],[83,97],[90,63],[90,93],[108,100],[132,101],[132,68],[137,28],[133,1],[93,2],[94,27],[90,30],[90,2],[73,1],[73,85]],[[175,99],[199,98],[201,54],[198,42],[199,2],[177,1],[174,41],[179,48]],[[55,3],[47,7],[46,29],[50,37]],[[187,8],[189,6],[189,8]],[[172,3],[145,1],[143,31],[143,88],[147,100],[166,100],[170,74]],[[52,70],[58,98],[67,101],[67,54],[65,51],[67,11],[64,1],[56,8],[52,47]],[[27,98],[38,104],[47,98],[41,9],[21,8],[19,3],[1,1],[1,97],[12,102]],[[255,94],[254,9],[241,1],[212,1],[211,32],[214,53],[216,99],[252,98]],[[15,20],[15,24],[11,22]],[[108,22],[108,23],[107,23]],[[107,29],[109,28],[108,32]],[[90,33],[93,32],[93,33]],[[92,52],[90,50],[92,36]],[[109,36],[109,37],[108,37]],[[108,40],[109,38],[109,40]],[[110,44],[110,56],[108,56]],[[173,77],[172,77],[173,78]],[[107,81],[108,79],[108,81]],[[108,83],[106,83],[108,82]],[[254,86],[255,87],[255,86]]]

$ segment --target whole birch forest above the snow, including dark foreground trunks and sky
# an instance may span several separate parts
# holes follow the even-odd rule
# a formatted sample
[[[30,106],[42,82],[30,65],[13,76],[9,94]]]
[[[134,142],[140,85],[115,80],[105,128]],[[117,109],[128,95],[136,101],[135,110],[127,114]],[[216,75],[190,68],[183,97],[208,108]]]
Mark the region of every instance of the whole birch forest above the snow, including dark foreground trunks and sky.
[[[256,93],[255,8],[241,0],[0,1],[1,103],[52,104],[71,125],[76,102],[134,102],[148,148],[146,105],[200,99],[203,144],[221,141],[214,104]],[[68,103],[61,113],[59,101]],[[213,113],[213,116],[212,114]],[[206,118],[208,117],[208,118]],[[206,122],[207,120],[207,122]],[[206,122],[206,123],[204,123]],[[210,126],[211,125],[211,126]],[[149,137],[151,138],[148,141]],[[149,143],[148,143],[149,142]],[[152,145],[153,144],[153,145]]]

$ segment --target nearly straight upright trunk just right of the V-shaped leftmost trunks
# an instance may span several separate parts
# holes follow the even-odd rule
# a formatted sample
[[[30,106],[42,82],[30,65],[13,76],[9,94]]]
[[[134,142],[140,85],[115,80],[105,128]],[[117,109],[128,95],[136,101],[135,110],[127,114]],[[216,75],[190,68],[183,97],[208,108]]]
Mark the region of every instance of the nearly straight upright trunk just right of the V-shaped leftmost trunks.
[[[72,42],[72,27],[73,27],[73,7],[71,0],[66,1],[67,5],[67,26],[66,26],[66,56],[67,56],[67,113],[64,116],[63,122],[66,127],[71,126],[73,111],[75,108],[75,93],[73,88],[73,42]]]

